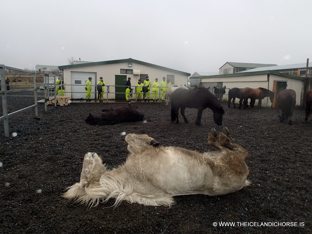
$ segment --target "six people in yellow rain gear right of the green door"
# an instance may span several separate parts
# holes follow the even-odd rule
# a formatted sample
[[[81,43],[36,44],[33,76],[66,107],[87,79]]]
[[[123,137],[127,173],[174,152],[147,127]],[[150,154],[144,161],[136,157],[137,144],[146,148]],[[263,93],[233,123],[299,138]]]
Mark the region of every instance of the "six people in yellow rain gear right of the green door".
[[[125,83],[125,86],[130,87],[131,78],[128,77],[127,82]],[[160,95],[161,95],[161,100],[164,101],[164,94],[167,90],[168,87],[171,87],[170,80],[167,80],[166,82],[166,77],[163,77],[163,81],[160,83],[158,82],[158,78],[155,78],[155,81],[152,82],[149,80],[149,76],[146,76],[145,80],[142,83],[142,80],[138,80],[138,83],[136,84],[136,91],[137,91],[137,101],[141,101],[144,99],[144,102],[150,101],[150,89],[152,87],[152,95],[153,95],[153,102],[158,101],[158,93],[159,93],[159,88],[160,88]],[[131,87],[130,87],[131,89]],[[126,100],[129,102],[130,101],[130,89],[126,89]],[[129,93],[128,93],[129,92]]]

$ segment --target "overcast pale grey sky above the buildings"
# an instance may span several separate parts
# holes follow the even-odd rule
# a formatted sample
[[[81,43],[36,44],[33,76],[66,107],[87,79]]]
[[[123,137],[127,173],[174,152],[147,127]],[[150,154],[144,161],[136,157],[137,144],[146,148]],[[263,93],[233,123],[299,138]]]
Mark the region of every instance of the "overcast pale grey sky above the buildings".
[[[311,0],[0,0],[0,64],[133,58],[193,74],[311,56]],[[311,59],[311,58],[310,58]]]

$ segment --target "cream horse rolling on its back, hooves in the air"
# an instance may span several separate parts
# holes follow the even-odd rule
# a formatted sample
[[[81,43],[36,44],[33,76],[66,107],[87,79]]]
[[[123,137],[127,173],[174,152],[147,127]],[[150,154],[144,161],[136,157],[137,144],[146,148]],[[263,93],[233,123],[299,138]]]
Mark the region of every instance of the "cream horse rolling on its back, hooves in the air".
[[[250,184],[245,158],[248,151],[232,144],[227,128],[217,138],[212,129],[208,144],[217,151],[199,153],[159,144],[148,135],[128,134],[129,156],[124,165],[107,170],[96,153],[84,157],[80,182],[68,188],[63,197],[97,206],[115,198],[151,206],[171,206],[173,196],[233,193]]]

